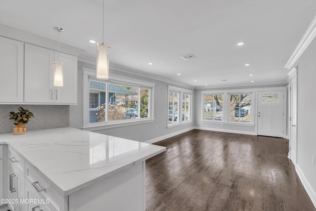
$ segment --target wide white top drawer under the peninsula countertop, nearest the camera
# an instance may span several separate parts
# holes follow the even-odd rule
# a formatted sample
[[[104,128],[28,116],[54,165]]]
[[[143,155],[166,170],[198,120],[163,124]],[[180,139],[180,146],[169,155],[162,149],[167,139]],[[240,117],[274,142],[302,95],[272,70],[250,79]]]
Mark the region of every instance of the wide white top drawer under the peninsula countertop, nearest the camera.
[[[25,181],[44,201],[49,200],[46,206],[50,211],[64,211],[65,197],[60,194],[52,185],[51,181],[47,181],[42,173],[28,162],[25,164]]]

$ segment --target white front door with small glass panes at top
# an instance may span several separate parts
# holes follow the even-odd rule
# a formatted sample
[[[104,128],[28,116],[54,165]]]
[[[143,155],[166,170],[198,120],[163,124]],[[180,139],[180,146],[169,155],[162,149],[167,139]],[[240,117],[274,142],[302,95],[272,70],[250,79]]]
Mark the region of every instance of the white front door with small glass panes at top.
[[[258,135],[283,137],[284,91],[258,92]]]

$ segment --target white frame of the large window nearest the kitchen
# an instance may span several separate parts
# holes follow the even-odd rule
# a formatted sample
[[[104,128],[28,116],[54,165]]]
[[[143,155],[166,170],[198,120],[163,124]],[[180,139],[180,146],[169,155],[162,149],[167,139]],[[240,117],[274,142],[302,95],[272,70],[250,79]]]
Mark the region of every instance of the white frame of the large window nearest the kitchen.
[[[83,69],[83,127],[84,130],[99,130],[99,129],[107,129],[107,128],[114,128],[114,127],[124,127],[124,126],[130,126],[130,125],[138,125],[138,124],[145,124],[145,123],[153,123],[154,118],[154,93],[155,93],[155,83],[151,82],[145,82],[137,79],[127,78],[124,76],[119,75],[110,75],[109,80],[99,80],[106,83],[106,111],[108,111],[108,96],[109,96],[109,84],[114,83],[118,85],[129,85],[129,86],[136,86],[138,88],[149,88],[151,87],[151,90],[149,92],[149,107],[148,107],[148,114],[149,117],[147,118],[135,118],[135,119],[124,119],[124,120],[117,120],[117,121],[106,121],[106,122],[97,122],[97,123],[90,123],[89,122],[89,97],[90,97],[90,79],[95,79],[96,72],[93,69],[89,68],[82,68]],[[100,94],[99,94],[100,97]],[[139,98],[140,101],[140,98]],[[99,99],[100,103],[100,99]],[[140,112],[140,107],[139,107]],[[106,113],[106,116],[108,113]],[[107,120],[107,117],[106,117]]]

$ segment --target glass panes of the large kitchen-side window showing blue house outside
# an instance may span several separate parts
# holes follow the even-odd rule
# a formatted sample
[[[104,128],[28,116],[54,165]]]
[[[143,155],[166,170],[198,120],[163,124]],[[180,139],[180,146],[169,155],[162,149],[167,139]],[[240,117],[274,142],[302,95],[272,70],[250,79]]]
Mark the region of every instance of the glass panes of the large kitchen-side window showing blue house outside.
[[[150,87],[89,79],[89,123],[140,120],[150,117]]]

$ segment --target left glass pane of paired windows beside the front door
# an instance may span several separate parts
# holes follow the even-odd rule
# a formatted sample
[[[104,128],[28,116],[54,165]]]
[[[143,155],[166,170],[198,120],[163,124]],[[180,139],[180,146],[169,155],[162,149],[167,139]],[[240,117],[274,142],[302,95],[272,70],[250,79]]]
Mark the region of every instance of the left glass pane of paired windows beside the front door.
[[[223,120],[223,94],[203,94],[204,120]]]

